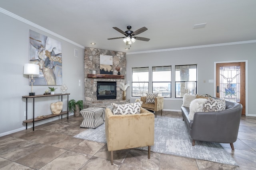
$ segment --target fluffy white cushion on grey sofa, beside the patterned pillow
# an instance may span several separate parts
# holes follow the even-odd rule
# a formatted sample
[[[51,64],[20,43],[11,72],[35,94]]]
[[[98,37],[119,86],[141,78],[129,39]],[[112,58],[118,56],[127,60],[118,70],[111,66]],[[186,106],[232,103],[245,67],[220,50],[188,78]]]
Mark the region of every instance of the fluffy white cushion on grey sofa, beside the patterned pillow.
[[[188,115],[189,120],[194,119],[194,113],[204,110],[204,102],[205,101],[206,101],[206,99],[204,99],[204,98],[198,98],[198,99],[192,100],[192,102],[190,103],[190,106],[189,106],[189,115]]]

